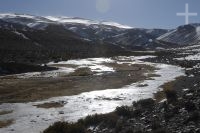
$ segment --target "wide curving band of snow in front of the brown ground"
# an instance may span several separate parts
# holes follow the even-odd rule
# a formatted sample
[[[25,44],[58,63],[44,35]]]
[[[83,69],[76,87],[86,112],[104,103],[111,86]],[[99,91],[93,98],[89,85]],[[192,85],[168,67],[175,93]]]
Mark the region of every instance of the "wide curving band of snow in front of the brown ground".
[[[123,57],[120,57],[123,59]],[[142,57],[143,58],[143,57]],[[101,61],[102,59],[100,59]],[[123,60],[126,60],[124,58]],[[133,59],[134,60],[134,57]],[[110,59],[108,59],[110,61]],[[75,64],[84,64],[71,61]],[[154,80],[145,80],[142,84],[148,86],[138,88],[138,83],[124,86],[120,89],[107,89],[101,91],[85,92],[74,96],[55,97],[44,101],[30,103],[4,103],[0,105],[0,110],[13,110],[13,113],[0,116],[0,120],[14,119],[15,123],[9,127],[2,128],[2,132],[13,133],[39,133],[56,121],[74,122],[80,118],[96,113],[109,113],[114,111],[117,106],[131,105],[133,101],[152,98],[153,94],[161,90],[160,86],[174,80],[176,77],[184,75],[182,68],[165,64],[150,64],[158,68]],[[141,84],[141,82],[140,82]],[[66,102],[62,108],[42,109],[33,105],[46,102]],[[60,114],[59,112],[62,112]]]

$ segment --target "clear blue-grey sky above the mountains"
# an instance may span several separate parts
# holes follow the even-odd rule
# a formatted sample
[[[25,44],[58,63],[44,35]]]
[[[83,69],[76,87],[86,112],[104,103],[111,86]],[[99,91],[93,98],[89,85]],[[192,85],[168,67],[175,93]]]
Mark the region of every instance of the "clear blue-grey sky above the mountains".
[[[185,4],[190,23],[200,23],[200,0],[0,0],[0,13],[68,16],[114,21],[136,28],[175,28],[185,24]]]

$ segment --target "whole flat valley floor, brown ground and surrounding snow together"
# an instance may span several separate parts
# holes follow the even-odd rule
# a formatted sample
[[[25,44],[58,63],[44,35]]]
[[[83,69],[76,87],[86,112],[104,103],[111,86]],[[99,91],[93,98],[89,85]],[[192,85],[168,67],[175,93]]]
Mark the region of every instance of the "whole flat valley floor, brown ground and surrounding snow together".
[[[108,113],[117,106],[153,97],[161,85],[183,75],[179,67],[139,60],[144,58],[70,60],[49,63],[61,67],[56,71],[1,78],[0,111],[13,112],[0,115],[0,121],[13,123],[0,131],[39,133],[55,121]],[[40,101],[29,102],[35,100]],[[16,101],[27,103],[8,103]]]

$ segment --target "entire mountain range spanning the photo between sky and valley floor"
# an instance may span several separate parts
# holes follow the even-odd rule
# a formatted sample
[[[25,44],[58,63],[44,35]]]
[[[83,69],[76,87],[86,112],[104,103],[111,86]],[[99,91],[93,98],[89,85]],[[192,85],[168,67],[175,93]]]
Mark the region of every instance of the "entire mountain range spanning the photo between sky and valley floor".
[[[16,60],[13,57],[16,51],[21,51],[19,53],[23,53],[24,57],[27,51],[46,51],[45,55],[38,58],[54,56],[53,59],[57,60],[70,56],[84,58],[138,50],[157,51],[200,42],[200,24],[166,30],[123,27],[115,22],[79,17],[48,18],[28,14],[0,14],[0,50],[9,51],[9,54],[3,52],[1,61],[7,61],[7,58],[9,61]],[[33,55],[28,54],[31,58],[34,58]]]

